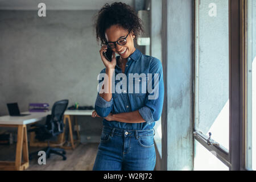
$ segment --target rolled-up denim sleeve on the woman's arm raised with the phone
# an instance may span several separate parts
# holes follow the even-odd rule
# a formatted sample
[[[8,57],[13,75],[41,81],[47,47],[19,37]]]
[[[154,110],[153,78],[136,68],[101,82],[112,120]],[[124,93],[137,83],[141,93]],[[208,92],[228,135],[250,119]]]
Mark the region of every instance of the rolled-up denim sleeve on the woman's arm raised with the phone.
[[[105,73],[105,68],[102,69],[101,73]],[[98,81],[99,85],[102,85],[102,84],[100,84],[100,82],[102,82],[102,81],[104,81],[104,77],[102,78],[102,80]],[[99,90],[100,89],[101,88],[99,88]],[[106,101],[97,92],[97,98],[96,98],[96,101],[95,101],[96,113],[98,115],[100,115],[100,117],[103,117],[103,118],[107,117],[109,115],[109,113],[112,111],[112,107],[113,107],[113,98],[111,98],[110,101]]]

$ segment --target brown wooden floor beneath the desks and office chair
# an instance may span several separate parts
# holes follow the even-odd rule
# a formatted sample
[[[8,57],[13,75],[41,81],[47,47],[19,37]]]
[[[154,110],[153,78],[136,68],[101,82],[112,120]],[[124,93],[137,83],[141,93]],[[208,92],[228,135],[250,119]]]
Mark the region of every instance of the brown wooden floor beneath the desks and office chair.
[[[29,152],[41,150],[38,147],[29,147]],[[15,160],[16,145],[0,145],[0,160]],[[75,150],[66,150],[67,160],[62,160],[59,155],[52,154],[46,159],[46,164],[39,165],[39,156],[30,160],[28,171],[91,171],[97,155],[98,143],[80,144]]]

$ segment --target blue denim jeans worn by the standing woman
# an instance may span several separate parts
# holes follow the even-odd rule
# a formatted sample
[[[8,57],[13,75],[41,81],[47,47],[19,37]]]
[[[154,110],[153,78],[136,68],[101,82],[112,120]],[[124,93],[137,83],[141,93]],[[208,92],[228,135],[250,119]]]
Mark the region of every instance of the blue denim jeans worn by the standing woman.
[[[152,171],[155,168],[154,129],[103,127],[95,171]]]

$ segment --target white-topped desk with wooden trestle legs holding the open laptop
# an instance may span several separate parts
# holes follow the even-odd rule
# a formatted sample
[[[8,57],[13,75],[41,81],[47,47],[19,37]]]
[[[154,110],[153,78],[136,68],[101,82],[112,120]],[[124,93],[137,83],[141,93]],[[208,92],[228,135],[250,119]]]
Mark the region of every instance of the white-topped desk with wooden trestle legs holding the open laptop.
[[[27,125],[42,120],[49,113],[51,112],[29,113],[30,115],[23,117],[11,117],[10,115],[0,117],[0,127],[18,127],[15,162],[0,162],[0,170],[24,170],[28,168]]]

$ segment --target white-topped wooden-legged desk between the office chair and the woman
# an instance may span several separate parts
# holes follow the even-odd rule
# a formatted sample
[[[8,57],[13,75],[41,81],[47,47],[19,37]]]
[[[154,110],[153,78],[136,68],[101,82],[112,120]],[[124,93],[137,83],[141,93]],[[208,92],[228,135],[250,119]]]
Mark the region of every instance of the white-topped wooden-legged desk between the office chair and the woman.
[[[77,116],[77,115],[92,115],[93,110],[66,110],[64,113],[64,119],[63,122],[64,124],[66,123],[66,120],[68,119],[68,126],[69,126],[69,138],[70,138],[70,143],[71,146],[63,146],[63,148],[67,149],[75,149],[75,147],[80,143],[80,134],[79,134],[79,129],[76,129],[77,131],[77,140],[73,139],[73,132],[72,132],[72,123],[71,123],[71,116]],[[76,126],[77,126],[77,118],[75,120]],[[66,127],[66,125],[65,125]],[[64,132],[61,134],[61,139],[60,142],[63,143],[65,141],[65,129]]]

